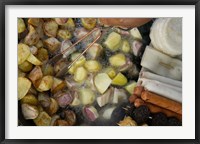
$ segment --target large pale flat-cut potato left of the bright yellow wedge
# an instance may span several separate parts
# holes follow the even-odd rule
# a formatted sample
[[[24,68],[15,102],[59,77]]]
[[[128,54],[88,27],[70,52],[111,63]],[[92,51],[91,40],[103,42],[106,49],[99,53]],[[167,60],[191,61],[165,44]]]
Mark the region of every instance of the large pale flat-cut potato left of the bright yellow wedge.
[[[112,80],[106,73],[99,73],[94,78],[94,84],[97,90],[103,94],[110,86]]]

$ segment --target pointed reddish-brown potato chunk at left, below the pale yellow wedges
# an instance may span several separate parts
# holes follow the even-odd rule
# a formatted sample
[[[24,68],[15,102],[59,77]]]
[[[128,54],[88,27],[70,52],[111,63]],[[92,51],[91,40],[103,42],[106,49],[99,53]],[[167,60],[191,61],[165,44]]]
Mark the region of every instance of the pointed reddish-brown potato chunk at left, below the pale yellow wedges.
[[[41,79],[43,77],[42,70],[40,66],[35,66],[35,68],[30,72],[28,78],[33,82],[33,84],[36,82],[36,80]]]

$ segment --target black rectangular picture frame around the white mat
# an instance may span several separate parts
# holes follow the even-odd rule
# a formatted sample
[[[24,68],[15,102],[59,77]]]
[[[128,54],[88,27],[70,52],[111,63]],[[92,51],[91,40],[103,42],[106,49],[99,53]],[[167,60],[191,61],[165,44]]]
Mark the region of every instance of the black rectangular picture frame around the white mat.
[[[5,7],[7,5],[195,5],[195,139],[134,139],[134,140],[23,140],[23,139],[5,139]],[[200,106],[199,106],[199,55],[200,55],[200,1],[199,0],[0,0],[0,142],[1,143],[153,143],[153,144],[199,144],[200,143]]]

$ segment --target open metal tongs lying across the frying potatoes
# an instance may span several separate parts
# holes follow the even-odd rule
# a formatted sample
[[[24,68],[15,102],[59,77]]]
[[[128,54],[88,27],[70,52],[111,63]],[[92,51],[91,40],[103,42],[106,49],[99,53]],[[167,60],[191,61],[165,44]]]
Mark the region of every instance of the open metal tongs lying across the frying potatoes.
[[[49,64],[55,63],[57,61],[59,61],[60,59],[63,58],[63,54],[65,54],[67,51],[71,50],[75,45],[79,44],[80,42],[82,42],[85,38],[89,37],[91,34],[93,34],[93,32],[98,31],[98,30],[102,30],[101,28],[94,28],[93,30],[91,30],[90,32],[88,32],[87,34],[85,34],[83,37],[81,37],[77,42],[75,42],[74,44],[72,44],[71,46],[69,46],[67,49],[65,49],[64,51],[62,51],[60,54],[55,55],[52,59],[49,60]],[[56,77],[61,77],[64,76],[68,70],[72,67],[72,65],[81,58],[81,56],[83,54],[85,54],[85,52],[91,47],[93,46],[93,44],[101,37],[101,32],[97,35],[97,37],[93,40],[92,43],[90,43],[85,49],[84,51],[74,60],[72,61],[70,64],[64,66],[57,74]]]

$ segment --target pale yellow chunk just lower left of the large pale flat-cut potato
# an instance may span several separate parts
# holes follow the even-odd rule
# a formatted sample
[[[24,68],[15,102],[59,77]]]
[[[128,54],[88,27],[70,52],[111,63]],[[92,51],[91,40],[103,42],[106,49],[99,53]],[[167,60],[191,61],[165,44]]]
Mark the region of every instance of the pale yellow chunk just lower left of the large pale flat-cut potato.
[[[95,101],[94,92],[89,88],[81,88],[79,91],[79,99],[83,105],[92,104]]]

